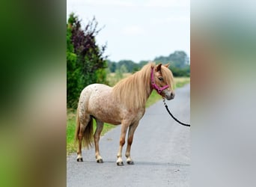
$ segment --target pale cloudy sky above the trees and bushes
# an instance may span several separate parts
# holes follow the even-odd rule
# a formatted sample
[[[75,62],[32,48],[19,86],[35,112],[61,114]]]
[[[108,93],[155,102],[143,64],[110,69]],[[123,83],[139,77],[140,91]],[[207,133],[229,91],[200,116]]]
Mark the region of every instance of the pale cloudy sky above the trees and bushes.
[[[153,61],[183,50],[190,57],[189,0],[67,0],[82,27],[95,18],[97,44],[111,61]]]

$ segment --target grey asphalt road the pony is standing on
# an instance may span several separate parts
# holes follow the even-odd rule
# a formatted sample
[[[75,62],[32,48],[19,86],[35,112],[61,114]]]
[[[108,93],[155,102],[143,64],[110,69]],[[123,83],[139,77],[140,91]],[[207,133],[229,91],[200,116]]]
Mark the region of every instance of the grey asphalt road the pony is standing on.
[[[190,122],[190,85],[178,88],[175,98],[166,101],[179,120]],[[100,138],[103,164],[94,157],[94,148],[67,156],[67,186],[190,186],[190,127],[175,122],[162,101],[146,109],[135,131],[131,156],[135,165],[116,165],[121,126]]]

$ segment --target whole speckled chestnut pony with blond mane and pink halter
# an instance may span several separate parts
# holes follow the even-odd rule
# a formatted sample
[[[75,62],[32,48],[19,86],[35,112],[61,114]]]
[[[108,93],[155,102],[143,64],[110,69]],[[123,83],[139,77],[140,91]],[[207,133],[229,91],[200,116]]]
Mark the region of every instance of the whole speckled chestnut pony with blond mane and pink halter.
[[[100,156],[99,141],[104,123],[121,124],[117,165],[124,165],[122,150],[127,137],[127,164],[133,165],[130,156],[132,139],[139,120],[145,112],[145,105],[153,89],[162,97],[174,99],[174,78],[168,64],[150,62],[138,72],[122,79],[114,87],[92,84],[85,87],[79,97],[76,113],[76,141],[79,141],[77,162],[82,162],[82,141],[91,147],[94,141],[96,162],[103,163]],[[97,128],[93,130],[93,119]]]

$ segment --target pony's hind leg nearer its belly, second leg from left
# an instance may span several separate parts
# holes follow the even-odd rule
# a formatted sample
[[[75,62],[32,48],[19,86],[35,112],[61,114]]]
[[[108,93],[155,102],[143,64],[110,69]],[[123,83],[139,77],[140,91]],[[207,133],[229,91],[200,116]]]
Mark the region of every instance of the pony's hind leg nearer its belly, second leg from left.
[[[97,123],[97,128],[94,133],[95,158],[97,163],[103,163],[103,158],[100,156],[99,141],[100,141],[100,133],[103,131],[104,123],[98,119],[96,119],[96,123]]]

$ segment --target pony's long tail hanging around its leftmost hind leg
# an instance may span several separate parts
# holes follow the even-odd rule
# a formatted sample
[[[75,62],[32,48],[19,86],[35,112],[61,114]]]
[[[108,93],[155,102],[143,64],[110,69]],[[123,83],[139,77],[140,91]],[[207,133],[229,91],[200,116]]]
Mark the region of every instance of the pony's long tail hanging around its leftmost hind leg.
[[[90,117],[88,124],[85,124],[85,131],[82,132],[82,140],[85,142],[85,147],[92,147],[94,144],[94,126],[93,126],[93,118]],[[80,119],[79,119],[79,108],[77,108],[76,112],[76,141],[79,140],[80,133]]]

